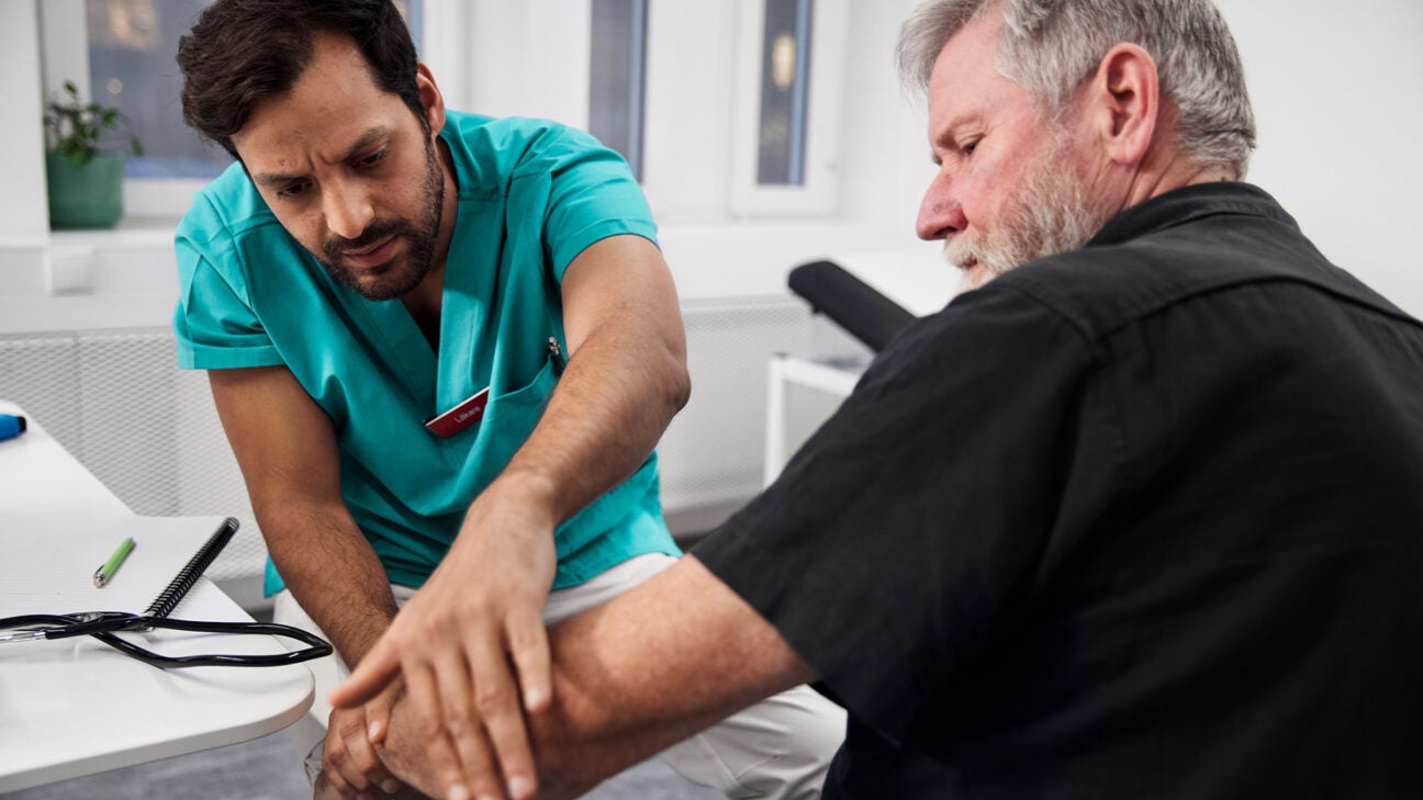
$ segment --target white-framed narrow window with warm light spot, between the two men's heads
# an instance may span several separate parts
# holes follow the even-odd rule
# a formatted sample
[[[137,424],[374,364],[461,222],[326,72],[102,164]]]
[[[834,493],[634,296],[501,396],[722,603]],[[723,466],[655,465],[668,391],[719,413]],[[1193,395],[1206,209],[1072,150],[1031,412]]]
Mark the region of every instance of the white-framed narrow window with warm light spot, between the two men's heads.
[[[659,218],[834,214],[848,0],[650,6],[643,189]]]

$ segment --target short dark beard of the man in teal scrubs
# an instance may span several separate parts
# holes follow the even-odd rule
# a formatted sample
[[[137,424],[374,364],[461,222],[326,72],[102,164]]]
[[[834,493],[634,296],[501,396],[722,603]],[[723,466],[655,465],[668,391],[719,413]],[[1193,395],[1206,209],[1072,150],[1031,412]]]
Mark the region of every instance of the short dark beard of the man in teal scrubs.
[[[322,242],[322,255],[316,256],[316,260],[326,268],[332,280],[367,300],[393,300],[407,295],[424,282],[434,266],[435,239],[444,215],[444,174],[428,127],[425,127],[425,175],[420,196],[424,199],[424,208],[417,223],[400,218],[373,219],[354,239],[332,236]],[[342,263],[347,251],[360,251],[390,236],[406,239],[403,262],[386,263],[379,268],[374,279],[361,282],[354,270]]]

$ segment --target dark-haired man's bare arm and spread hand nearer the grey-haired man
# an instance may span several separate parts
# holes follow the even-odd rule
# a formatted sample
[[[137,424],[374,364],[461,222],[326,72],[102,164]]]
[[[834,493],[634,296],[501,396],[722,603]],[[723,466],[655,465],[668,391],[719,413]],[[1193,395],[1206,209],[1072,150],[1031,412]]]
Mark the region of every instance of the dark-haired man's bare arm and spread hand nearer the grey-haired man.
[[[632,475],[690,391],[677,293],[656,245],[595,242],[561,289],[569,362],[548,409],[440,568],[332,693],[353,706],[403,672],[431,735],[455,742],[457,762],[430,754],[445,791],[498,797],[501,772],[515,799],[536,790],[522,712],[552,700],[542,614],[554,528]]]

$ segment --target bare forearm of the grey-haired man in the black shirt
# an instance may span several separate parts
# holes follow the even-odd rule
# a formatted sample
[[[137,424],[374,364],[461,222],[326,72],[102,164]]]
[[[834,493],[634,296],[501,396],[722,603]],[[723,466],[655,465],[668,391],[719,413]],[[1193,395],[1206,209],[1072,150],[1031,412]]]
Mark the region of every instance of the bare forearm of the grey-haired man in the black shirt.
[[[575,797],[757,700],[814,679],[693,557],[551,631],[554,706],[531,719],[541,797]]]

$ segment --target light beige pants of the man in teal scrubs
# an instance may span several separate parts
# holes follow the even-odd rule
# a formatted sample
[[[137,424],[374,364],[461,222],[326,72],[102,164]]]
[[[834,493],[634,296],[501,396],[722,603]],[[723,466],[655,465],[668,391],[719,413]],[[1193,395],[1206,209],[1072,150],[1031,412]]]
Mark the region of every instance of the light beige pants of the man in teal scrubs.
[[[586,584],[551,592],[544,621],[554,623],[608,602],[675,561],[660,554],[639,555]],[[393,585],[391,591],[400,605],[416,594],[408,586]],[[292,592],[276,595],[273,616],[276,622],[320,635]],[[350,675],[350,669],[337,655],[307,662],[307,666],[316,678],[316,702],[290,732],[305,759],[306,776],[314,783],[332,715],[326,695]],[[844,736],[845,712],[813,689],[797,686],[667,747],[659,757],[687,780],[719,789],[727,797],[815,800]]]

